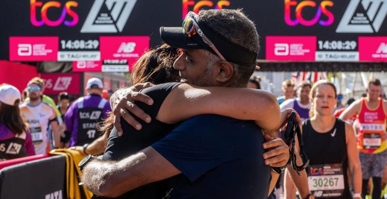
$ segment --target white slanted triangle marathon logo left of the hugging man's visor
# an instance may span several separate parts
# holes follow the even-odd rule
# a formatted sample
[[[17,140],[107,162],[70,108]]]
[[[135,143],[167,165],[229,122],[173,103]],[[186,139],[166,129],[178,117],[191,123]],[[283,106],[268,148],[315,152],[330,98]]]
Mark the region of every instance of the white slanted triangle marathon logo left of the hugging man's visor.
[[[137,0],[95,0],[80,32],[122,32],[136,2]],[[109,12],[104,12],[106,8]]]

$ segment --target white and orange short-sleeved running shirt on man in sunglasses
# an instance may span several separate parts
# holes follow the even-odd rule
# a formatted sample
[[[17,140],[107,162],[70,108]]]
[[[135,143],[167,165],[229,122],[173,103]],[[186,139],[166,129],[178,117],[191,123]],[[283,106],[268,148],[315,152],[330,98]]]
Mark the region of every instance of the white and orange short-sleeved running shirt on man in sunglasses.
[[[35,153],[48,153],[50,151],[48,128],[50,118],[56,116],[54,109],[44,102],[36,106],[23,103],[19,108],[23,121],[28,124],[29,131],[31,132]]]

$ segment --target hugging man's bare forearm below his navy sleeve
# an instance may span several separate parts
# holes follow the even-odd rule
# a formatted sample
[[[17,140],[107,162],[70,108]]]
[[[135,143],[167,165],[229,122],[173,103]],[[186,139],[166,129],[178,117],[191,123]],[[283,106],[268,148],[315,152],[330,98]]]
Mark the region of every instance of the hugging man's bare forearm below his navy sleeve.
[[[94,160],[83,168],[81,180],[93,193],[118,197],[144,184],[180,173],[176,167],[149,146],[119,162]]]

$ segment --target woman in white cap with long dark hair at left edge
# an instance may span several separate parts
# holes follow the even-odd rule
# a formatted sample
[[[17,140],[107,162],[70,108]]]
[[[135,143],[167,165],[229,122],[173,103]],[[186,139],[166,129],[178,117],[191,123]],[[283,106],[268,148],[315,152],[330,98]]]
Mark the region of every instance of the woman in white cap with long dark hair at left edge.
[[[35,154],[31,134],[20,116],[20,97],[14,86],[0,86],[0,161]]]

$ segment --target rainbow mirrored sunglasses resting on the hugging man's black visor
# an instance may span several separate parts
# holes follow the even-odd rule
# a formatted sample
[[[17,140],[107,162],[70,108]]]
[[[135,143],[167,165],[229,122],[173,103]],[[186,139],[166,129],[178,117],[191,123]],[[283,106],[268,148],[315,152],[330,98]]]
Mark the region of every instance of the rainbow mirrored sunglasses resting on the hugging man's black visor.
[[[186,18],[184,19],[182,25],[183,33],[187,34],[188,37],[191,37],[196,33],[199,34],[199,36],[203,39],[203,42],[207,44],[223,61],[226,61],[223,55],[218,51],[217,47],[215,47],[215,45],[213,45],[213,43],[208,39],[208,37],[206,37],[201,31],[199,25],[196,22],[196,16],[197,14],[192,11],[186,15]]]

